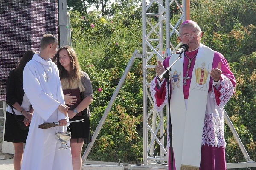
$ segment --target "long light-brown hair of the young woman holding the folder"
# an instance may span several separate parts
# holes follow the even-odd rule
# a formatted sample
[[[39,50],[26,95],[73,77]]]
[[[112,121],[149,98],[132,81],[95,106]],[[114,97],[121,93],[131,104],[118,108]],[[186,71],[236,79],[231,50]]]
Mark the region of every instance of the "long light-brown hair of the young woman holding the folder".
[[[70,58],[70,71],[69,72],[67,70],[65,70],[65,68],[61,65],[60,60],[59,60],[59,52],[63,49],[67,50],[67,54]],[[62,88],[63,89],[79,88],[80,92],[84,91],[85,88],[81,81],[83,73],[81,71],[81,67],[79,65],[75,50],[68,45],[60,47],[58,49],[58,52],[52,58],[52,61],[54,62],[55,59],[57,59],[56,64],[59,69]]]

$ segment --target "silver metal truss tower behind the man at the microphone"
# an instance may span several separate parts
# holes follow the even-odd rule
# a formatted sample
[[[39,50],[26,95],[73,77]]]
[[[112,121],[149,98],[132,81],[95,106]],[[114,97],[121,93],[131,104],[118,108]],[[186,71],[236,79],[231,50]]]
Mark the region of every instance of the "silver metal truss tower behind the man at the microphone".
[[[189,0],[187,0],[189,1]],[[164,5],[170,4],[170,5]],[[153,13],[152,9],[158,6],[158,13]],[[180,17],[175,25],[170,24],[170,6],[177,6],[180,10]],[[161,136],[164,134],[164,111],[157,112],[154,107],[149,107],[149,103],[153,105],[153,101],[149,92],[149,82],[147,81],[148,69],[154,69],[155,65],[150,65],[151,59],[163,62],[165,56],[169,56],[173,50],[181,44],[173,44],[170,37],[177,35],[177,27],[186,20],[186,0],[182,0],[182,4],[178,0],[143,0],[142,1],[142,59],[143,59],[143,163],[147,165],[151,161],[159,161],[166,163],[167,161],[167,140]],[[154,10],[155,11],[155,10]],[[158,21],[153,19],[158,18]],[[165,27],[164,27],[165,24]],[[164,30],[165,28],[165,30]],[[165,32],[164,32],[165,31]],[[165,36],[164,36],[165,35]],[[164,47],[165,44],[165,47]],[[156,64],[156,63],[155,63]],[[149,80],[151,81],[151,80]],[[168,119],[168,118],[167,118]],[[150,135],[151,134],[151,135]],[[157,142],[159,146],[159,155],[154,156],[154,145]]]

